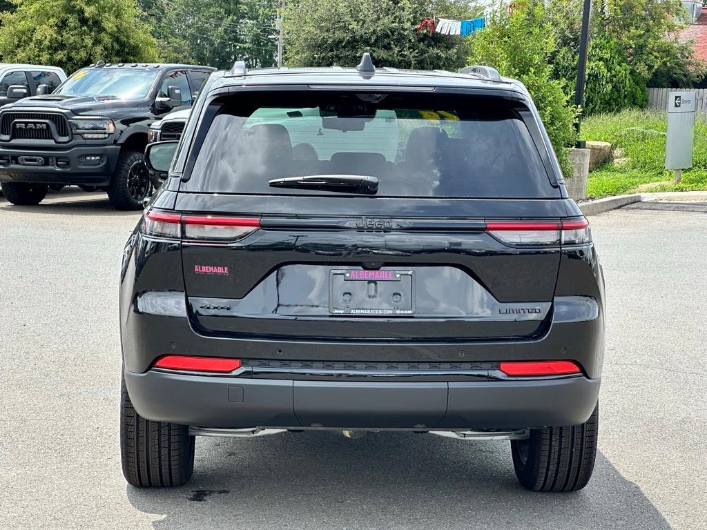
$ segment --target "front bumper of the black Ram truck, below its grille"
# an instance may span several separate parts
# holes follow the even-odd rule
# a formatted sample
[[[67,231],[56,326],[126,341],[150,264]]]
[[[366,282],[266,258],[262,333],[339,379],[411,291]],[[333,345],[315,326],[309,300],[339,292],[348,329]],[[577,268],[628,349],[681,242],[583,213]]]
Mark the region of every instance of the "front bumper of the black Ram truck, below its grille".
[[[66,151],[0,149],[0,182],[106,186],[119,152],[120,146],[115,145],[80,146]],[[100,160],[86,160],[87,156],[99,156]]]

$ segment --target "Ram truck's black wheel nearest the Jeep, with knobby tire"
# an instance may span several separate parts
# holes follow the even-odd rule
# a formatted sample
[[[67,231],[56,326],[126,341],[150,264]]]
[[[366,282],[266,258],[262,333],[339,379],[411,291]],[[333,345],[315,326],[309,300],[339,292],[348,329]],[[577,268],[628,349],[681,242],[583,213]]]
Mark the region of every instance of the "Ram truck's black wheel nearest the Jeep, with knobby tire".
[[[108,200],[118,210],[141,210],[150,194],[150,175],[143,153],[122,151],[108,185]]]

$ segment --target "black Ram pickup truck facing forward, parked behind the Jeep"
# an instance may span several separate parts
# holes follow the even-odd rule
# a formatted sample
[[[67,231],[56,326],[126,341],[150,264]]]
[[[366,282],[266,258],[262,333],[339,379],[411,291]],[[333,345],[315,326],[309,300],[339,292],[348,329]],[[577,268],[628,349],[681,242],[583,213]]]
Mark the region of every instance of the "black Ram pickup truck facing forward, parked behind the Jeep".
[[[142,207],[148,127],[194,93],[214,69],[104,64],[76,71],[51,95],[0,110],[0,182],[13,204],[39,204],[49,184],[108,192],[115,208]]]

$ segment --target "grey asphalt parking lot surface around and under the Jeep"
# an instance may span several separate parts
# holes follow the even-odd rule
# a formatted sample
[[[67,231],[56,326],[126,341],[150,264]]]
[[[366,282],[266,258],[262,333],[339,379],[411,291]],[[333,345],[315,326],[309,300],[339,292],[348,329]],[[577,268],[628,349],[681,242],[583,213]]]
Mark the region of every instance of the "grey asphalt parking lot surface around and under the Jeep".
[[[117,315],[139,213],[71,189],[0,198],[0,528],[707,528],[707,213],[676,209],[590,218],[607,351],[585,490],[523,490],[508,442],[384,432],[199,438],[191,483],[139,490],[120,471]]]

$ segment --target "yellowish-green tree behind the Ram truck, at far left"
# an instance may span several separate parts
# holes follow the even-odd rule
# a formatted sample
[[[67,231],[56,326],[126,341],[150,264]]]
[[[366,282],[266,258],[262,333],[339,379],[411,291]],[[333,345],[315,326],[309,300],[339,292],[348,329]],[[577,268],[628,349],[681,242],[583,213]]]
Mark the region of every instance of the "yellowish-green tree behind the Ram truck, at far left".
[[[16,0],[0,14],[2,61],[61,66],[155,61],[156,40],[135,0]]]

